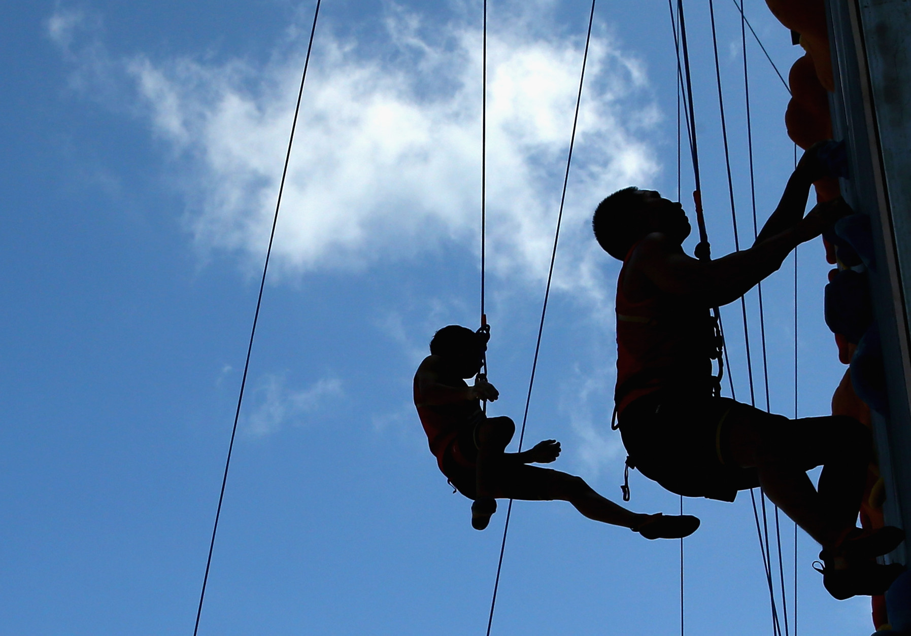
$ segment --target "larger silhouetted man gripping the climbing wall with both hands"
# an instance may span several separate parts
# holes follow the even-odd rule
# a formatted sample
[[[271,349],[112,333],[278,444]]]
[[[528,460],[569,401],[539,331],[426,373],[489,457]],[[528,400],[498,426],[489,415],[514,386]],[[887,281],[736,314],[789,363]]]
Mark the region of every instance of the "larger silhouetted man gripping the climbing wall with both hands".
[[[762,486],[822,545],[825,588],[846,599],[881,594],[902,571],[875,562],[904,540],[902,530],[855,528],[873,452],[868,429],[845,416],[786,419],[722,398],[721,374],[711,370],[722,355],[711,308],[740,298],[851,212],[836,199],[804,217],[811,184],[828,173],[817,151],[804,154],[752,247],[725,257],[687,256],[681,204],[651,190],[615,192],[592,225],[600,246],[623,261],[614,413],[628,466],[686,497],[733,501]],[[819,465],[815,490],[806,470]]]

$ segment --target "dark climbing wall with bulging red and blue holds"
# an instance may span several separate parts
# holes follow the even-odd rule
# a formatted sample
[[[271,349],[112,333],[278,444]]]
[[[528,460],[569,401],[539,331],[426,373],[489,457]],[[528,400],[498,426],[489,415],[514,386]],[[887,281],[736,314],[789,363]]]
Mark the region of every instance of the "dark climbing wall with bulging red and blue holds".
[[[819,201],[843,195],[856,211],[824,235],[834,266],[825,321],[847,365],[834,414],[872,427],[877,463],[869,469],[861,521],[911,529],[911,409],[906,284],[911,284],[911,9],[905,0],[766,0],[804,56],[792,66],[788,135],[806,149],[844,140],[840,178],[815,184]],[[905,34],[905,35],[903,35]],[[907,562],[905,547],[890,555]],[[907,574],[906,574],[907,576]],[[873,599],[877,629],[905,625],[911,581]],[[902,624],[896,624],[898,623]],[[895,632],[892,632],[895,633]]]

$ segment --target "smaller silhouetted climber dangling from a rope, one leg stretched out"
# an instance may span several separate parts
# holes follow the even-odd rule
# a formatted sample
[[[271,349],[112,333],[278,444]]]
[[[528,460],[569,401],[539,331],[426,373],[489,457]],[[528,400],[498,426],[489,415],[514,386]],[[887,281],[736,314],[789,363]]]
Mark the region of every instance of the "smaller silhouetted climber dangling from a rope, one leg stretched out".
[[[430,355],[415,373],[415,407],[440,470],[468,499],[471,524],[484,530],[496,499],[564,500],[589,519],[623,526],[647,539],[678,539],[699,528],[690,515],[639,514],[606,500],[580,477],[528,466],[558,458],[560,444],[546,439],[532,449],[505,452],[516,431],[507,417],[488,418],[480,400],[499,396],[480,374],[489,335],[450,325],[430,341]],[[475,378],[473,386],[465,379]]]

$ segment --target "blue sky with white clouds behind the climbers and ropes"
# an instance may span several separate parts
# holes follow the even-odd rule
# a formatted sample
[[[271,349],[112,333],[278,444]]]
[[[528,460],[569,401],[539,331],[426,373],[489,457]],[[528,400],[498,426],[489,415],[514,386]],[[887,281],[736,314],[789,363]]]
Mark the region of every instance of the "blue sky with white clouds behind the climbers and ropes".
[[[496,413],[518,418],[556,220],[588,4],[492,2],[488,318]],[[746,10],[783,72],[800,55]],[[688,4],[714,254],[732,249],[707,5]],[[741,236],[752,233],[742,47],[716,6]],[[189,633],[230,435],[310,3],[8,3],[0,218],[0,632]],[[426,449],[411,377],[478,302],[480,4],[329,0],[251,361],[200,633],[464,634],[486,625],[503,515],[471,530]],[[609,430],[618,264],[590,210],[676,189],[673,49],[660,0],[602,0],[528,421],[558,468],[619,499]],[[787,94],[749,43],[760,222],[793,166]],[[686,157],[684,157],[684,164]],[[684,169],[683,202],[690,172]],[[827,266],[800,250],[800,411],[844,372]],[[793,261],[764,289],[772,408],[793,413]],[[754,361],[755,293],[748,297]],[[725,311],[749,395],[739,308]],[[757,377],[762,368],[755,367]],[[763,405],[760,399],[760,405]],[[638,473],[630,506],[673,511]],[[770,633],[749,497],[688,500],[688,633]],[[791,533],[783,521],[789,601]],[[494,633],[677,633],[678,554],[517,503]],[[798,563],[799,632],[872,631]],[[793,610],[793,608],[791,608]]]

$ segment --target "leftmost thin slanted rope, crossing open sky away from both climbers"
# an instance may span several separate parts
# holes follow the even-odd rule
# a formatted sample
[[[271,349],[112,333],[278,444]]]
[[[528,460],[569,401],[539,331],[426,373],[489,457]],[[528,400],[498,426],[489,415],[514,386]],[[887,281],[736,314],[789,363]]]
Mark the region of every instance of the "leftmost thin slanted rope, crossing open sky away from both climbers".
[[[237,424],[241,419],[241,404],[243,403],[243,389],[247,386],[247,372],[250,370],[250,357],[253,350],[253,338],[256,336],[256,325],[260,318],[260,308],[262,306],[262,292],[266,286],[266,273],[269,271],[269,258],[272,253],[272,242],[275,239],[275,227],[279,220],[279,209],[281,208],[281,195],[284,192],[285,177],[288,176],[288,163],[291,160],[291,149],[294,143],[294,131],[297,128],[298,115],[301,112],[301,97],[303,96],[303,83],[307,78],[307,67],[310,66],[310,54],[313,48],[313,35],[316,34],[316,20],[320,15],[320,3],[322,0],[316,0],[316,9],[313,12],[313,24],[310,29],[310,42],[307,44],[307,56],[303,61],[303,72],[301,75],[301,87],[297,92],[297,104],[294,106],[294,118],[291,125],[291,135],[288,137],[288,151],[285,153],[284,167],[281,170],[281,184],[279,185],[278,199],[275,202],[275,214],[272,217],[271,233],[269,235],[269,247],[266,249],[266,260],[262,266],[262,278],[260,280],[260,294],[256,298],[256,311],[253,313],[253,325],[250,329],[250,342],[247,345],[247,358],[243,363],[243,377],[241,378],[241,390],[237,397],[237,409],[234,411],[234,425],[230,431],[230,444],[228,445],[228,456],[225,459],[224,475],[221,478],[221,490],[219,493],[219,505],[215,510],[215,522],[212,524],[212,538],[209,543],[209,557],[206,559],[206,573],[202,577],[202,590],[200,591],[200,605],[196,610],[196,624],[193,627],[193,636],[197,636],[200,630],[200,617],[202,616],[202,603],[206,598],[206,585],[209,583],[209,570],[212,564],[212,552],[215,550],[215,536],[219,530],[219,519],[221,516],[221,504],[225,497],[225,487],[228,484],[228,469],[230,468],[231,451],[234,449],[234,438],[237,436]]]

